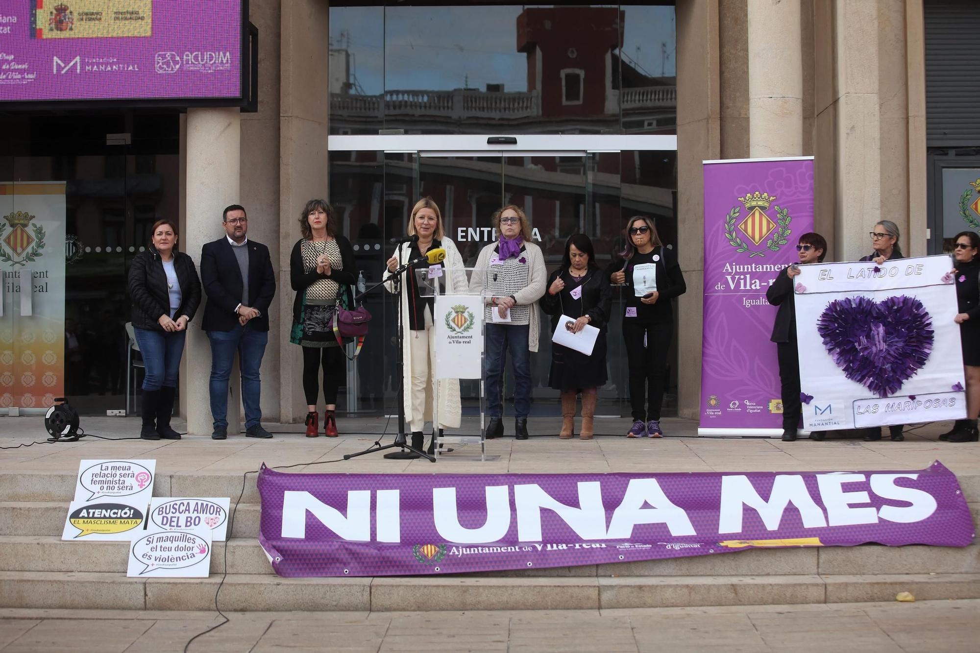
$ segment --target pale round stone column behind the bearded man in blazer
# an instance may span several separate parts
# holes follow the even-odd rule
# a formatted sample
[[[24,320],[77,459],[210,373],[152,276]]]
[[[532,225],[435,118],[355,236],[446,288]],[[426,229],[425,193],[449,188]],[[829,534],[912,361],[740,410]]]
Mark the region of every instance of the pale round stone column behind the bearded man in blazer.
[[[188,109],[185,121],[185,225],[181,228],[181,249],[190,254],[200,269],[201,246],[224,234],[221,211],[239,202],[239,156],[241,119],[238,109]],[[180,375],[180,396],[185,406],[187,432],[211,434],[211,404],[208,379],[211,375],[211,345],[201,329],[203,299],[197,316],[187,331]],[[231,371],[228,399],[228,432],[236,433],[240,423],[241,393],[239,374]]]

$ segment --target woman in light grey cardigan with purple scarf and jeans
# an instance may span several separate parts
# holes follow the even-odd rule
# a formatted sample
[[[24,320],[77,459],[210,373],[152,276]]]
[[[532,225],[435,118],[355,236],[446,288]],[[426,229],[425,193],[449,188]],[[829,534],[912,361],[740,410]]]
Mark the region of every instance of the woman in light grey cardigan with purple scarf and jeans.
[[[487,438],[504,434],[504,363],[511,352],[514,369],[515,439],[527,439],[527,415],[531,411],[531,352],[538,350],[538,300],[545,294],[545,269],[541,248],[531,242],[531,226],[520,208],[505,206],[493,216],[500,234],[480,251],[470,292],[484,295],[483,378],[490,423]]]

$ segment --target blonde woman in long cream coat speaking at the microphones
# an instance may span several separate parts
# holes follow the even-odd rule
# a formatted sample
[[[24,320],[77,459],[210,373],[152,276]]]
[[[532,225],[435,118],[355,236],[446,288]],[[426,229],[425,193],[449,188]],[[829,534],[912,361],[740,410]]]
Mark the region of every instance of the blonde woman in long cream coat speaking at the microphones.
[[[420,261],[403,272],[401,278],[402,347],[403,377],[405,388],[405,419],[412,430],[412,446],[421,449],[425,437],[422,429],[425,422],[432,419],[432,381],[435,372],[435,298],[422,296],[416,272],[422,271],[430,278],[445,279],[445,294],[465,294],[467,292],[466,273],[463,257],[452,240],[445,237],[442,214],[431,197],[423,197],[416,202],[409,218],[408,234],[412,237],[395,250],[388,259],[388,272],[393,273],[402,265],[416,261],[431,252],[433,262]],[[435,250],[445,250],[444,258]],[[442,259],[437,261],[437,259]],[[438,270],[435,270],[438,269]],[[431,272],[429,272],[431,271]],[[395,292],[393,281],[386,281],[384,287]],[[427,293],[428,294],[428,293]],[[432,426],[433,438],[429,443],[432,453],[436,428],[459,428],[460,381],[455,378],[439,380],[439,424]]]

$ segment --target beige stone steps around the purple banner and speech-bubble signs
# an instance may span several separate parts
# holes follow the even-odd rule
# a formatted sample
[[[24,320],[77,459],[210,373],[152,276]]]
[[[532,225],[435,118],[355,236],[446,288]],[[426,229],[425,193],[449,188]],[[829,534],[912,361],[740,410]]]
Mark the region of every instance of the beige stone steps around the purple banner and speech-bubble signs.
[[[975,518],[980,475],[960,476]],[[62,541],[74,474],[0,472],[0,607],[251,611],[567,610],[980,598],[980,546],[826,547],[466,576],[278,578],[250,475],[212,577],[125,578],[125,542]],[[237,473],[160,475],[158,496],[230,496]]]

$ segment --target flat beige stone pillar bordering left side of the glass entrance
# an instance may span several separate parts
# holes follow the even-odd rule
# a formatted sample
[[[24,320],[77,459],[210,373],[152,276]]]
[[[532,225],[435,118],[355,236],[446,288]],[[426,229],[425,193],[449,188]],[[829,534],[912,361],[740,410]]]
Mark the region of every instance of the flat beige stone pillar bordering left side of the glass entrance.
[[[303,352],[289,342],[293,292],[289,255],[300,237],[296,218],[313,198],[328,199],[327,117],[330,105],[328,3],[291,0],[281,9],[279,75],[279,420],[306,416]],[[322,398],[320,398],[322,400]]]

